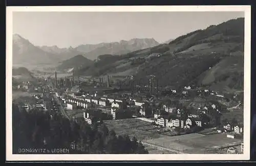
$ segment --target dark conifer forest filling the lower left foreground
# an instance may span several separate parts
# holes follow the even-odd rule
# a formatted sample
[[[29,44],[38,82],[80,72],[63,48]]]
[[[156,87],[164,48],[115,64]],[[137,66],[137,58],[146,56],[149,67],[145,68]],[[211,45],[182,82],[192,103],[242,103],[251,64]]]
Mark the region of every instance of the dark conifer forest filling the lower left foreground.
[[[69,121],[48,112],[19,110],[13,104],[13,154],[19,148],[67,148],[71,154],[146,154],[134,137],[116,135],[103,124],[91,127],[84,120]],[[51,153],[52,154],[52,153]]]

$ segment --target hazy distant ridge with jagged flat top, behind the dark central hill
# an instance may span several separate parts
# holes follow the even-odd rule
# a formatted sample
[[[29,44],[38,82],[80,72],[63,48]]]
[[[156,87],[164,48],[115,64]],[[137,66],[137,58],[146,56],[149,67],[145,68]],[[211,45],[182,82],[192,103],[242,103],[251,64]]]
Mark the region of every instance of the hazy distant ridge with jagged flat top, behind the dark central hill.
[[[95,60],[102,54],[121,55],[156,45],[159,45],[159,43],[154,39],[131,39],[129,41],[121,40],[120,42],[103,43],[102,46],[85,53],[85,57]]]

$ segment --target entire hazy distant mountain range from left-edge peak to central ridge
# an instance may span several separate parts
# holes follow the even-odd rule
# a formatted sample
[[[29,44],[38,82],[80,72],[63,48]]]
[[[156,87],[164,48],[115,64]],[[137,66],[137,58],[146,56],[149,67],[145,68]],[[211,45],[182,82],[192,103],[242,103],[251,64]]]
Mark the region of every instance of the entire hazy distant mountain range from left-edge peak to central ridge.
[[[12,40],[13,64],[56,64],[79,54],[95,60],[101,54],[125,54],[159,45],[152,39],[131,39],[129,41],[79,45],[75,48],[59,48],[58,46],[35,46],[18,34]]]

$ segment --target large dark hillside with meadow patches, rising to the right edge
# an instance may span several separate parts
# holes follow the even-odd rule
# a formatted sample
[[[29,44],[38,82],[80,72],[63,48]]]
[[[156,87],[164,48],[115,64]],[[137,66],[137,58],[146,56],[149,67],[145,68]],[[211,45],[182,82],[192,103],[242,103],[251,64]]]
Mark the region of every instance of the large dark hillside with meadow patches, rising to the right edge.
[[[243,45],[244,18],[232,19],[180,36],[168,44],[116,56],[115,60],[106,57],[109,61],[102,61],[103,66],[97,65],[101,64],[99,61],[81,70],[81,74],[134,75],[145,84],[146,76],[154,74],[161,87],[179,89],[190,85],[241,91]],[[227,78],[227,75],[231,76]]]

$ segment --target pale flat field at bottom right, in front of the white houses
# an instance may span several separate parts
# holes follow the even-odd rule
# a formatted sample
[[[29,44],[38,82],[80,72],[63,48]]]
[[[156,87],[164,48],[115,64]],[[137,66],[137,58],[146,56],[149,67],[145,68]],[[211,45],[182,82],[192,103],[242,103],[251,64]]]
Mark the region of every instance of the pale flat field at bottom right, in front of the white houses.
[[[207,153],[210,150],[240,144],[242,141],[230,139],[225,134],[203,135],[191,133],[178,136],[161,137],[158,139],[145,140],[146,143],[172,148],[186,153]]]

